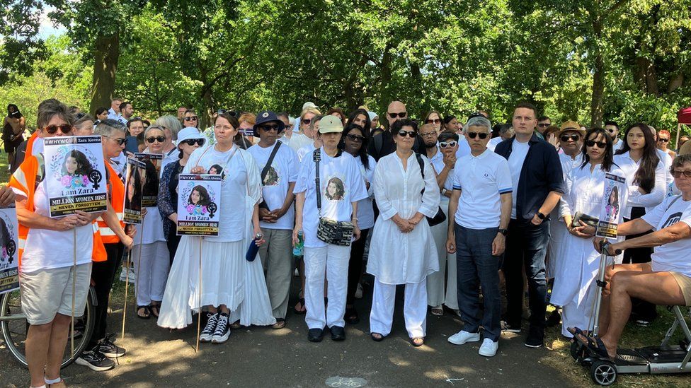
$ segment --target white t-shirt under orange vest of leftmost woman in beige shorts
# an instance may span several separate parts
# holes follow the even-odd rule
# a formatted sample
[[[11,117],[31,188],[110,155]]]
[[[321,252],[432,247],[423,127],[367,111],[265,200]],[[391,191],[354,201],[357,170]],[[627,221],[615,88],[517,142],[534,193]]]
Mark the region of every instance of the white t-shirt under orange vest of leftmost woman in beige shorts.
[[[18,170],[20,171],[20,170]],[[16,194],[27,196],[18,189]],[[38,184],[34,192],[35,213],[40,216],[50,216],[50,206],[45,193],[45,180]],[[156,213],[158,213],[156,211]],[[30,273],[40,269],[64,268],[73,264],[74,235],[72,230],[59,232],[57,230],[31,228],[26,236],[26,244],[22,254],[19,271]],[[76,264],[91,262],[93,250],[93,224],[76,228]]]

